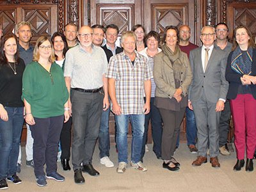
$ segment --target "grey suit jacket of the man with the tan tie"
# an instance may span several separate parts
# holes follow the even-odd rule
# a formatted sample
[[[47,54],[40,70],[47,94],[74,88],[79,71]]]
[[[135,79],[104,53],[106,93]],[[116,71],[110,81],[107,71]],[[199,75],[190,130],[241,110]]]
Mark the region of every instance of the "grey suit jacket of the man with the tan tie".
[[[202,66],[202,47],[193,49],[189,55],[192,83],[189,86],[189,100],[198,101],[203,93],[210,102],[226,99],[228,82],[225,79],[227,56],[221,49],[214,47],[204,72]]]

